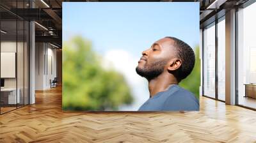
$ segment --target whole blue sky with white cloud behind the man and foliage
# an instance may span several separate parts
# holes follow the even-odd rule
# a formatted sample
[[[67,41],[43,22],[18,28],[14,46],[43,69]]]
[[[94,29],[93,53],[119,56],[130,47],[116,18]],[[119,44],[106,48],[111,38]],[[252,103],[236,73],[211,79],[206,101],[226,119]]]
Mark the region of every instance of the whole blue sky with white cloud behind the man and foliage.
[[[138,110],[149,97],[147,80],[135,72],[143,50],[165,36],[199,44],[199,3],[64,2],[62,18],[64,42],[83,36],[104,68],[124,75],[135,102],[120,110]]]

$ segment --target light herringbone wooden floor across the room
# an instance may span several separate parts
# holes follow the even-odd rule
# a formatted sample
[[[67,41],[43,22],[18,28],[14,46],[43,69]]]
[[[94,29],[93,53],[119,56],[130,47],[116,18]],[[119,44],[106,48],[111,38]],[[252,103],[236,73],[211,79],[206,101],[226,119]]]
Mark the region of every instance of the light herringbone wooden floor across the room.
[[[0,116],[0,142],[256,142],[256,112],[200,97],[200,112],[61,110],[61,88]]]

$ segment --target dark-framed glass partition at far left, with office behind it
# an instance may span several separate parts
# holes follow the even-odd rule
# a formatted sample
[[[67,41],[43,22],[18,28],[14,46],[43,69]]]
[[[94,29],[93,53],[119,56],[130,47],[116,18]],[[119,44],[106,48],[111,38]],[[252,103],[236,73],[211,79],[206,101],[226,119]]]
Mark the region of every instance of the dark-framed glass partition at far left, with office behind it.
[[[27,3],[0,1],[11,10],[27,8]],[[0,30],[0,114],[3,114],[29,103],[29,22],[0,8]]]

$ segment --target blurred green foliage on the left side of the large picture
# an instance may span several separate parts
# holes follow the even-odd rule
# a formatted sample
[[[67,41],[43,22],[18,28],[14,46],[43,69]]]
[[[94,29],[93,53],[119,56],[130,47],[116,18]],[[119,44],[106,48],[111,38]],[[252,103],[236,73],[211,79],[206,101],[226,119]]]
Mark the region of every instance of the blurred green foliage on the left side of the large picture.
[[[118,110],[132,100],[123,75],[102,68],[90,41],[76,36],[63,44],[63,110]]]

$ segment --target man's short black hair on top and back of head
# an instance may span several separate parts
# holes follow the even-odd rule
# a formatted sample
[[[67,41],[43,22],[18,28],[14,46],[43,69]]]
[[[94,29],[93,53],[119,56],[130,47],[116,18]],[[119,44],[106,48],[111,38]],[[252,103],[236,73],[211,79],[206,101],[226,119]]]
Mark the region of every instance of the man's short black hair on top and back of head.
[[[185,79],[195,66],[195,52],[187,43],[178,38],[172,36],[166,36],[165,38],[170,38],[175,41],[173,46],[176,48],[177,57],[182,61],[175,77],[178,81]]]

